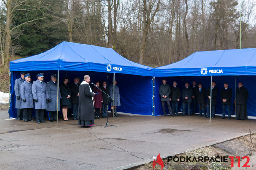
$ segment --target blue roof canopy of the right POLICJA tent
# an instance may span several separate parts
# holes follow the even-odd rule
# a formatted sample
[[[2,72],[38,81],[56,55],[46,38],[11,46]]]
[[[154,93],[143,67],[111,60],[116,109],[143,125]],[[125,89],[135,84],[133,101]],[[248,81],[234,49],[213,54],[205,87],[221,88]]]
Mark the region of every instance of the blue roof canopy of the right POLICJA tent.
[[[256,75],[256,48],[195,52],[155,68],[156,77]]]

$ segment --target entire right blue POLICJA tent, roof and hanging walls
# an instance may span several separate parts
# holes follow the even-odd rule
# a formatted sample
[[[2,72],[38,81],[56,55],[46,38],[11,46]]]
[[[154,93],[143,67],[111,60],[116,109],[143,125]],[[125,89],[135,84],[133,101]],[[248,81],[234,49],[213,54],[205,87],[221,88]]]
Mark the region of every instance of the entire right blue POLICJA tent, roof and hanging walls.
[[[243,82],[244,87],[249,90],[248,115],[256,116],[256,91],[252,90],[256,84],[256,48],[195,52],[181,61],[155,68],[155,76],[155,93],[158,93],[162,78],[166,78],[171,85],[173,81],[177,81],[181,89],[185,82],[191,84],[192,81],[201,82],[208,88],[212,76],[212,81],[216,81],[219,87],[219,95],[223,83],[228,82],[229,87],[233,89],[232,100],[235,99],[237,83]],[[159,98],[159,95],[156,95],[156,115],[162,113]],[[219,98],[217,102],[216,113],[221,114]],[[181,103],[179,105],[181,106]]]

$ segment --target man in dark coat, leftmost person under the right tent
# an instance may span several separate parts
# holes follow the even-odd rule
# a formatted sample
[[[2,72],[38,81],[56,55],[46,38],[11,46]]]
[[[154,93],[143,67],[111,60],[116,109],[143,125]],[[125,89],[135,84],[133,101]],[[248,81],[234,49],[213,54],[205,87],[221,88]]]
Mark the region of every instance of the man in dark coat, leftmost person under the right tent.
[[[169,84],[166,84],[166,79],[163,79],[162,81],[163,81],[163,84],[161,84],[159,87],[159,95],[161,96],[161,104],[163,107],[164,116],[166,116],[165,102],[167,103],[170,116],[173,116],[172,107],[171,107],[171,103],[170,103],[170,97],[169,97],[169,95],[171,93],[171,88],[170,88]]]

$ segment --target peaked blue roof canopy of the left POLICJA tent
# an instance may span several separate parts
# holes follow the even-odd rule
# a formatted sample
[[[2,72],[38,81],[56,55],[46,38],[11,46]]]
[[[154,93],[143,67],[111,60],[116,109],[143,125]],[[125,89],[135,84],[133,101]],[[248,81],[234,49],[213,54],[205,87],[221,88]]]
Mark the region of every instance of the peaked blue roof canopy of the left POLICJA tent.
[[[96,71],[141,76],[154,74],[152,67],[129,61],[112,48],[65,41],[44,53],[10,62],[10,71],[36,70]]]

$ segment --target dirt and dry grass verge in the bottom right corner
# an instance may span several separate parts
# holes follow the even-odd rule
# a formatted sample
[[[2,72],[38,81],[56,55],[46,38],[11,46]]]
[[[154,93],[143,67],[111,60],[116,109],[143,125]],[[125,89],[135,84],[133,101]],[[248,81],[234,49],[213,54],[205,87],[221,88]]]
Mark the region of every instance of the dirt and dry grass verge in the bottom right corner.
[[[252,142],[251,142],[252,140]],[[253,156],[254,155],[254,156]],[[167,159],[164,159],[164,170],[233,170],[234,168],[231,168],[231,159],[229,159],[229,156],[249,156],[255,157],[256,155],[256,134],[253,135],[246,135],[240,138],[236,138],[233,140],[229,140],[223,143],[219,143],[213,146],[208,146],[200,149],[196,149],[193,151],[185,152],[180,155],[176,155],[180,158],[180,156],[188,156],[191,158],[196,157],[198,160],[199,156],[208,156],[208,157],[217,157],[217,156],[227,156],[228,162],[193,162],[193,163],[187,163],[187,162],[174,162],[174,161],[167,161]],[[220,160],[220,159],[218,159]],[[246,162],[246,161],[245,161]],[[252,167],[252,165],[255,164],[255,160],[251,160],[248,165]],[[240,166],[242,167],[244,165],[243,163],[240,163]],[[234,167],[237,167],[237,161],[234,159]],[[144,166],[140,166],[138,168],[135,168],[133,170],[152,170],[152,162],[148,163]],[[155,170],[161,170],[161,166],[156,164]],[[243,168],[242,168],[243,169]],[[249,168],[250,169],[250,168]],[[256,168],[252,168],[256,169]]]

